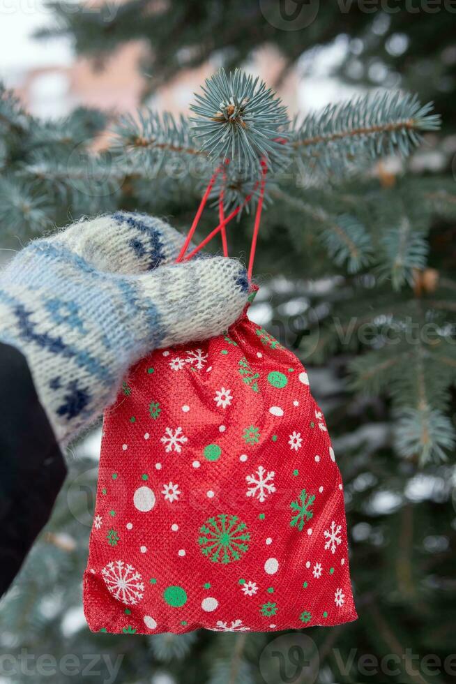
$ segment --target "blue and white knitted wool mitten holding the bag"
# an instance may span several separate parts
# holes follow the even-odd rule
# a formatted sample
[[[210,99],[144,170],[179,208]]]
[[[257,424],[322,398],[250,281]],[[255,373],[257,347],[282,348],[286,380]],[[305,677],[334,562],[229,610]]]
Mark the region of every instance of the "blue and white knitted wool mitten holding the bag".
[[[0,274],[0,340],[25,355],[62,445],[146,352],[220,334],[241,314],[243,266],[176,264],[182,243],[165,221],[117,212],[31,242]]]

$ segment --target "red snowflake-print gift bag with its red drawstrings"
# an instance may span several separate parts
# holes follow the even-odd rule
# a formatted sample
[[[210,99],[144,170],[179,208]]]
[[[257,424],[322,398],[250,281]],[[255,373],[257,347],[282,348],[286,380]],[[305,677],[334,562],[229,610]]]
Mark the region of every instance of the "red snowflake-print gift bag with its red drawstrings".
[[[185,256],[210,188],[180,259],[198,250]],[[221,231],[227,253],[240,208],[224,218],[221,201],[199,247]],[[342,479],[307,373],[247,308],[226,334],[130,370],[103,424],[84,575],[91,630],[340,625],[356,619],[347,554]]]

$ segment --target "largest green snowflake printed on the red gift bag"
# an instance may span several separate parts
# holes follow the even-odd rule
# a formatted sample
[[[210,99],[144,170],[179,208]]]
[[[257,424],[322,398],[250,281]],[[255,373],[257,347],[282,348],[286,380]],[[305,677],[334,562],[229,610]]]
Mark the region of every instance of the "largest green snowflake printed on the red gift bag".
[[[247,525],[237,515],[220,513],[208,518],[200,528],[198,544],[203,556],[212,563],[231,563],[248,551],[250,534]]]

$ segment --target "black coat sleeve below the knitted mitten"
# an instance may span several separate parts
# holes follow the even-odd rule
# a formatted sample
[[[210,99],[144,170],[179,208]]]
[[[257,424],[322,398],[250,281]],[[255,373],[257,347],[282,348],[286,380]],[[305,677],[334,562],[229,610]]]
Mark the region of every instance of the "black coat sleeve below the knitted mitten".
[[[0,595],[47,523],[65,476],[26,359],[0,343]]]

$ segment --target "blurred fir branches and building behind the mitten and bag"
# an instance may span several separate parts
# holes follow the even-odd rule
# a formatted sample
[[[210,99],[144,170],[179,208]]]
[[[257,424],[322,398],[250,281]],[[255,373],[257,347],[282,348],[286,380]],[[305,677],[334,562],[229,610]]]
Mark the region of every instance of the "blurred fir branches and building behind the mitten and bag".
[[[252,318],[305,363],[326,415],[359,620],[280,637],[91,634],[82,573],[96,427],[69,449],[52,521],[0,602],[1,684],[453,681],[455,28],[443,0],[0,0],[0,80],[17,98],[1,92],[3,261],[45,230],[119,207],[188,228],[197,181],[105,166],[100,179],[84,155],[105,159],[119,117],[137,122],[138,108],[188,114],[220,66],[259,75],[290,118],[397,89],[442,117],[407,159],[355,149],[336,174],[329,151],[323,180],[281,179],[261,228]],[[243,216],[232,253],[245,255],[250,229]]]

